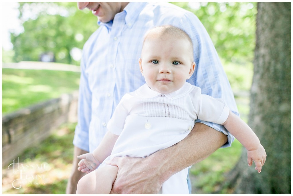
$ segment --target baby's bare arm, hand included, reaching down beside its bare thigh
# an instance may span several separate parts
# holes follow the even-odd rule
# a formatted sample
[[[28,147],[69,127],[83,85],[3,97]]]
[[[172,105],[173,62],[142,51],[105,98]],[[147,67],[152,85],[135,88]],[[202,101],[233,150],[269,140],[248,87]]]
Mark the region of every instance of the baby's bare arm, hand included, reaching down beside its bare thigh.
[[[118,137],[118,135],[108,131],[93,153],[86,153],[77,156],[77,158],[81,159],[78,163],[79,167],[77,169],[87,174],[94,171],[109,155],[111,155]]]

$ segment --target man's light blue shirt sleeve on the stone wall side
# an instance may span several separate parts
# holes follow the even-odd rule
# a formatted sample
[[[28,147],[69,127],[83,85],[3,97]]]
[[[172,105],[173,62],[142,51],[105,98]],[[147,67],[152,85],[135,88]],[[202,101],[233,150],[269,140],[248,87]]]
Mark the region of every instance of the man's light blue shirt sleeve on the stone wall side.
[[[85,48],[85,47],[84,47]],[[78,123],[75,127],[73,144],[74,146],[89,152],[88,130],[91,122],[91,90],[88,85],[88,77],[85,73],[86,53],[81,59],[81,76],[79,82],[79,98],[78,98]]]

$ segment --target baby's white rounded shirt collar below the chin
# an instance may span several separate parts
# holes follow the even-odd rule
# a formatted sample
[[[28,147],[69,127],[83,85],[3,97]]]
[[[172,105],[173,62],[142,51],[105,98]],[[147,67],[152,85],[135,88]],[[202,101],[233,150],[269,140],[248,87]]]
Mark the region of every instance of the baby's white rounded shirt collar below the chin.
[[[164,95],[171,100],[177,99],[189,94],[194,89],[194,87],[195,86],[191,85],[190,83],[185,82],[185,84],[179,90]],[[147,84],[144,84],[139,89],[137,89],[136,93],[142,98],[154,98],[156,96],[162,95],[161,93],[152,90]]]

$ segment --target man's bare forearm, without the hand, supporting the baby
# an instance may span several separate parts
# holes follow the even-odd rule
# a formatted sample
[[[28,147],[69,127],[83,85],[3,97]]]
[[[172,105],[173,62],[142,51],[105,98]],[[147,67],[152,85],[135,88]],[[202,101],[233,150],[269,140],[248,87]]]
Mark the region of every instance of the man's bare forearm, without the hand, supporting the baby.
[[[200,162],[227,142],[227,136],[211,127],[196,123],[190,134],[179,143],[159,150],[149,158],[157,164],[162,181],[186,167]]]

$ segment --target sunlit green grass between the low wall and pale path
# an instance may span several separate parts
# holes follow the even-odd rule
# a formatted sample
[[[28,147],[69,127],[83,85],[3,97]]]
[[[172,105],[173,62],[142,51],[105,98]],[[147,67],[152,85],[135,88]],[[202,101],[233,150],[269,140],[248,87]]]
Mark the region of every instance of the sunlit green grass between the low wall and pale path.
[[[79,72],[2,69],[2,114],[78,90]]]

